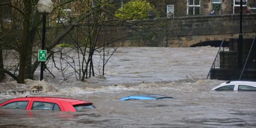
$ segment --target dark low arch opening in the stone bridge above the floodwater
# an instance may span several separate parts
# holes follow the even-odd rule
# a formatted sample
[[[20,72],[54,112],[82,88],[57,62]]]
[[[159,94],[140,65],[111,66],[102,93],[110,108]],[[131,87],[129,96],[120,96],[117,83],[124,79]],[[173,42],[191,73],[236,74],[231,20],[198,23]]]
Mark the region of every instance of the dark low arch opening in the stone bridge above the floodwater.
[[[203,42],[199,42],[199,43],[190,45],[189,47],[200,47],[200,46],[219,47],[219,46],[221,46],[221,42],[222,42],[222,40],[203,41]],[[226,43],[226,42],[228,42],[228,41],[223,42],[222,47],[228,46],[228,43]]]

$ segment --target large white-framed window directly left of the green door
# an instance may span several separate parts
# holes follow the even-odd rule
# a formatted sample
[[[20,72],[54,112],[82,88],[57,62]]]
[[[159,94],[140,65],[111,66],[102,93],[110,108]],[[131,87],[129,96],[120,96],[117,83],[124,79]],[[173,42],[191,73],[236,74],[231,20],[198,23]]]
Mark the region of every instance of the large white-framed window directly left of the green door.
[[[200,0],[187,0],[187,15],[200,15]]]

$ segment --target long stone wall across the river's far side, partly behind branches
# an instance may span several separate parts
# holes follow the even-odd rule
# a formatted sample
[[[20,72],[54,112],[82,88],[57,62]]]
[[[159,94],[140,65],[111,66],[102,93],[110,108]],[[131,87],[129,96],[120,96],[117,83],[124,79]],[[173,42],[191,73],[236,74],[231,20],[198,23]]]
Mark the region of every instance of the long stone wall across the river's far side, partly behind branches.
[[[253,38],[256,34],[256,14],[244,14],[243,15],[243,36],[247,38]],[[158,19],[145,19],[143,22],[156,22]],[[131,21],[138,22],[138,21]],[[160,25],[160,23],[167,23],[167,25]],[[77,42],[83,42],[86,38],[84,30],[86,26],[80,26],[67,35],[60,43],[74,43],[74,39]],[[134,29],[140,27],[131,26]],[[66,28],[59,28],[62,29]],[[214,15],[214,16],[195,16],[195,17],[174,17],[168,20],[159,22],[152,26],[145,26],[144,29],[151,29],[158,33],[149,32],[148,30],[139,30],[143,33],[139,34],[136,30],[131,28],[112,29],[108,31],[108,40],[114,41],[110,46],[151,46],[151,47],[189,47],[193,44],[204,42],[222,40],[223,38],[238,38],[239,33],[239,15]],[[138,30],[138,29],[137,29]],[[41,32],[41,30],[39,30]],[[47,40],[48,36],[57,36],[58,30],[51,27],[46,31],[46,43],[51,42]],[[54,32],[54,33],[53,33]],[[56,35],[55,35],[56,34]],[[39,34],[41,35],[41,33]],[[103,35],[103,34],[102,34]],[[71,37],[72,36],[72,37]],[[129,36],[127,38],[124,38]],[[166,39],[167,38],[167,39]],[[39,39],[39,37],[37,37]],[[98,45],[104,43],[104,36],[101,36],[98,41]],[[153,41],[153,40],[155,41]],[[117,41],[115,41],[117,40]],[[40,40],[39,40],[40,43]]]

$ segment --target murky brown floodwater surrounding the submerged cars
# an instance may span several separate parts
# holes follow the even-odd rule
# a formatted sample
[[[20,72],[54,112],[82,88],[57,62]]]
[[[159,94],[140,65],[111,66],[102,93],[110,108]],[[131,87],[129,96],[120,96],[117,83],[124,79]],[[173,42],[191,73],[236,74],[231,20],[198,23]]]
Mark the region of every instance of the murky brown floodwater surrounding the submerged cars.
[[[44,81],[17,84],[6,78],[0,91],[30,89],[35,85],[43,86],[44,90],[40,94],[0,94],[0,102],[32,94],[88,100],[97,109],[74,113],[1,108],[0,128],[254,128],[255,92],[210,91],[224,82],[205,79],[217,50],[123,47],[107,63],[105,79],[96,76],[79,82],[73,74],[62,81],[46,74],[49,77],[44,76]],[[51,62],[47,67],[62,79],[62,73],[51,68]],[[69,72],[71,68],[65,73]],[[140,93],[174,99],[119,100]]]

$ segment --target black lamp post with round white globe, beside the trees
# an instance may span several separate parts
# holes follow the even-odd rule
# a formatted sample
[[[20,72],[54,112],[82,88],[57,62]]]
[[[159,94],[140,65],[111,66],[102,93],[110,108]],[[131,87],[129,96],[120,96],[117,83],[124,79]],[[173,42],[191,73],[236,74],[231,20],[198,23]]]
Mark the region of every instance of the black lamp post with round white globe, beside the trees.
[[[43,14],[42,50],[44,50],[46,15],[53,11],[53,2],[52,2],[52,0],[39,0],[38,3],[37,3],[37,9],[40,13]],[[40,81],[43,80],[44,63],[45,63],[45,61],[41,61]]]

